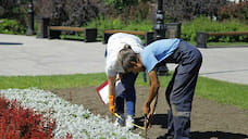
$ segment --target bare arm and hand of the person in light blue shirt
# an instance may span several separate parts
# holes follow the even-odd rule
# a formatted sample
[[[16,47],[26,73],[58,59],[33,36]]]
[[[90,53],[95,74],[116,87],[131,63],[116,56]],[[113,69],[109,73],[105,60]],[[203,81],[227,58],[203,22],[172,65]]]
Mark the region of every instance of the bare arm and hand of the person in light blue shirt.
[[[142,106],[142,112],[144,114],[147,116],[148,114],[153,114],[154,110],[156,110],[156,103],[157,103],[157,99],[158,99],[158,91],[159,91],[159,87],[160,87],[160,83],[157,76],[157,72],[156,68],[152,70],[149,73],[149,77],[150,77],[150,89],[149,89],[149,94],[148,98]]]

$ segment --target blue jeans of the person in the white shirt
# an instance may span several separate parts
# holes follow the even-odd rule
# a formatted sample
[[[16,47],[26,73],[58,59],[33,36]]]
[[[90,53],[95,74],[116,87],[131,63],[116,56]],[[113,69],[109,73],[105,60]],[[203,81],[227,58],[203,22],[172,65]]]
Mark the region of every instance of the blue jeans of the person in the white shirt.
[[[135,92],[135,80],[138,74],[126,73],[122,75],[122,84],[125,90],[115,98],[115,109],[116,113],[124,113],[124,102],[126,101],[126,114],[135,115],[135,103],[136,103],[136,92]]]

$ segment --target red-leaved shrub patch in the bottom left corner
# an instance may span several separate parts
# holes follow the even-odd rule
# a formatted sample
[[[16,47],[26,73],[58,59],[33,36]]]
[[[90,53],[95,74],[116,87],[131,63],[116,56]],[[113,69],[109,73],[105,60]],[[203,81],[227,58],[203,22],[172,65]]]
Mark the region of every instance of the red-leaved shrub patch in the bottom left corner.
[[[46,126],[45,126],[46,125]],[[55,122],[0,97],[0,138],[51,139]]]

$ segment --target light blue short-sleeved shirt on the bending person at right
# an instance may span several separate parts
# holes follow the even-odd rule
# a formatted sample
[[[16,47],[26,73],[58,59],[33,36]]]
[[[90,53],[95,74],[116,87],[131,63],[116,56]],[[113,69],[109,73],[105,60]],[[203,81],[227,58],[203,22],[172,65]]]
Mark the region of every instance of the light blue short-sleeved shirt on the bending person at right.
[[[151,72],[158,63],[170,56],[178,45],[179,39],[175,38],[157,40],[145,47],[140,52],[140,56],[147,72]]]

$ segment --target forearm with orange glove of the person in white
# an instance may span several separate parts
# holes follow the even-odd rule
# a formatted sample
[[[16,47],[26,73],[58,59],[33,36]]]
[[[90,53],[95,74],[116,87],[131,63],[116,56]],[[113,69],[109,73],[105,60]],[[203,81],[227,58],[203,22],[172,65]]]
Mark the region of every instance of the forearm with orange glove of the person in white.
[[[115,76],[108,76],[109,84],[109,111],[115,113],[114,100],[115,100]]]

